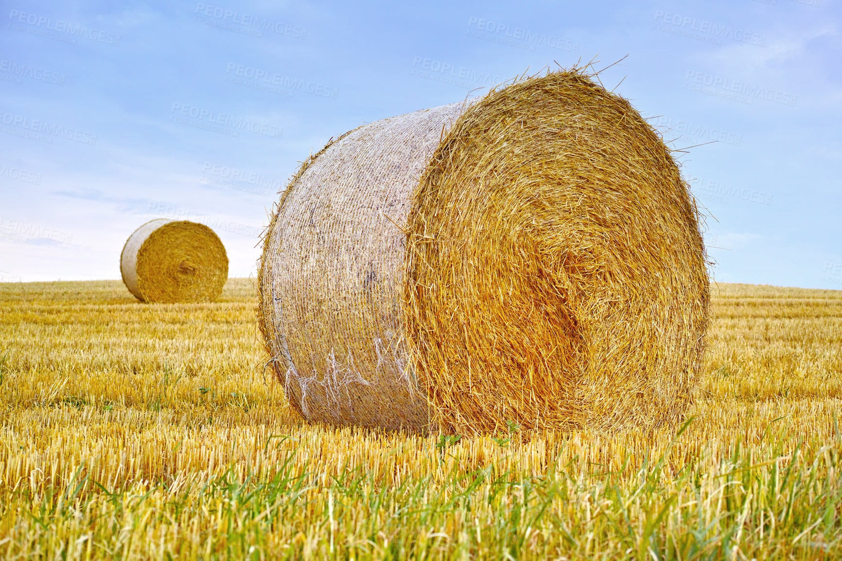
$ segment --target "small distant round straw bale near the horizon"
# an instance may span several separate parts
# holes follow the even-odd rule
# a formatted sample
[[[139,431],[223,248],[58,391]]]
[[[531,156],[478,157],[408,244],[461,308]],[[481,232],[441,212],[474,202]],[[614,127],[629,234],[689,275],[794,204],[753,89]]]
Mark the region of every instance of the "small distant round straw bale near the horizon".
[[[120,272],[141,302],[212,302],[228,278],[228,256],[204,224],[159,218],[125,242]]]

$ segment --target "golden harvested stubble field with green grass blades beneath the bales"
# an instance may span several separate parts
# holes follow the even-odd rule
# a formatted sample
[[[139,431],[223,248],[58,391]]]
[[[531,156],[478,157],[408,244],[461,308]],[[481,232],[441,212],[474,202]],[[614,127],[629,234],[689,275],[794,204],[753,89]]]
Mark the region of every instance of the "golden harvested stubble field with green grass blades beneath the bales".
[[[712,297],[684,425],[457,441],[302,424],[252,280],[0,285],[0,556],[839,558],[842,292]]]

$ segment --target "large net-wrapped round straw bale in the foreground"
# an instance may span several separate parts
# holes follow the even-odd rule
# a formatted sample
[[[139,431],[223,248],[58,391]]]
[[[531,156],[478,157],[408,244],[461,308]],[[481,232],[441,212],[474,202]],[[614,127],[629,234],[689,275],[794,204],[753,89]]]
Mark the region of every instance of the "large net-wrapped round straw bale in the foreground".
[[[306,419],[462,434],[673,422],[709,298],[668,147],[575,69],[328,142],[281,195],[258,286]]]

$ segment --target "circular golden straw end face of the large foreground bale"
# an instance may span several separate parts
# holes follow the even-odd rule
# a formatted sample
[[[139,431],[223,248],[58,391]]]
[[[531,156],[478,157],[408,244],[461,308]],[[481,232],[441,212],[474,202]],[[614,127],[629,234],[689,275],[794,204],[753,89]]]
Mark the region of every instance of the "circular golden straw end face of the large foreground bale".
[[[626,99],[556,73],[472,105],[404,227],[404,322],[457,432],[653,426],[685,410],[708,277],[669,149]]]

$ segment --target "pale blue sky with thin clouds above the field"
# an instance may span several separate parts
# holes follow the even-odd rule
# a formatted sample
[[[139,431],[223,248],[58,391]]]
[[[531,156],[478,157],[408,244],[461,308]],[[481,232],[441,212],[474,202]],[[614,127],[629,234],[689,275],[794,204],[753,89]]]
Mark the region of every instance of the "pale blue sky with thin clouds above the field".
[[[716,279],[842,289],[838,0],[3,4],[0,281],[120,278],[164,216],[253,275],[276,191],[331,136],[622,59],[602,83],[702,145],[680,162]]]

